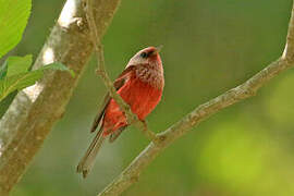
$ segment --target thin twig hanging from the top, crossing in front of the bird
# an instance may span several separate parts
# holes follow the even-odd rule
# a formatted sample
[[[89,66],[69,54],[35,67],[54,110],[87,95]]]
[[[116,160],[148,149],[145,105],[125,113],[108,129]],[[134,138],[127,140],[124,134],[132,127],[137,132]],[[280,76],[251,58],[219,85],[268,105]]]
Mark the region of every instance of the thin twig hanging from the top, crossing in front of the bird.
[[[156,134],[148,130],[146,124],[138,120],[137,115],[135,115],[130,106],[121,98],[121,96],[117,93],[110,77],[107,74],[106,65],[105,65],[105,54],[103,54],[103,46],[101,44],[98,29],[96,26],[94,12],[93,12],[93,1],[94,0],[87,0],[87,11],[86,16],[89,25],[89,29],[91,33],[91,38],[94,42],[94,47],[97,53],[98,59],[98,69],[97,73],[101,76],[108,91],[110,93],[110,96],[115,100],[115,102],[119,105],[120,109],[125,113],[127,119],[127,124],[134,124],[137,128],[139,128],[143,134],[150,140],[156,140]]]

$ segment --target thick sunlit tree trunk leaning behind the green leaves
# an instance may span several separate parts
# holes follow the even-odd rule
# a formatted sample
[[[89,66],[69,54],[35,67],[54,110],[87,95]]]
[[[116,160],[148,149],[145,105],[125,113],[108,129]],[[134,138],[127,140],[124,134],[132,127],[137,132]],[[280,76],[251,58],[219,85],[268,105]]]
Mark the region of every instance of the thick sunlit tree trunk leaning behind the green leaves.
[[[120,0],[96,0],[95,21],[101,38]],[[7,195],[24,174],[56,121],[62,118],[93,52],[82,0],[68,0],[40,51],[34,69],[59,61],[75,72],[50,72],[15,97],[0,121],[0,195]]]

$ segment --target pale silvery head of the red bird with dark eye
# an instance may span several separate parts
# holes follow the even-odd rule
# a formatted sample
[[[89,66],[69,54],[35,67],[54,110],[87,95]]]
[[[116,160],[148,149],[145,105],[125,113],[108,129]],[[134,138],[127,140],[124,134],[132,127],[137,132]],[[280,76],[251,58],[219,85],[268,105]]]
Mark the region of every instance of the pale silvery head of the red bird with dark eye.
[[[126,66],[147,63],[161,65],[161,59],[159,56],[161,48],[162,46],[144,48],[130,60]]]

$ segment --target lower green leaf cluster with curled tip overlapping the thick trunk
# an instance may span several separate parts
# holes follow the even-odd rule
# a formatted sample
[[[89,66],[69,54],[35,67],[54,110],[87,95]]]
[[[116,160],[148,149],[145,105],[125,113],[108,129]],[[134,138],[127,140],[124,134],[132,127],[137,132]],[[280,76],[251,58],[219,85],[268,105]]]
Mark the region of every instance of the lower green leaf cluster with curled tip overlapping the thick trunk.
[[[13,58],[13,60],[7,61],[8,74],[4,78],[0,79],[0,101],[14,90],[21,90],[34,85],[36,81],[42,77],[46,70],[69,71],[72,76],[74,76],[73,71],[69,70],[61,63],[51,63],[38,70],[28,72],[28,62],[32,62],[32,56]]]

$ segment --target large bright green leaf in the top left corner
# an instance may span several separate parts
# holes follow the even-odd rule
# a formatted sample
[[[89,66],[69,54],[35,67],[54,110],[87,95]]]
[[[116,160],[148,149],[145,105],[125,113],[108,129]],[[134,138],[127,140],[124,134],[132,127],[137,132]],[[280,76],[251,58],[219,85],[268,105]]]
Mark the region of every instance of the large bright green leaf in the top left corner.
[[[0,0],[0,58],[22,39],[32,0]]]

